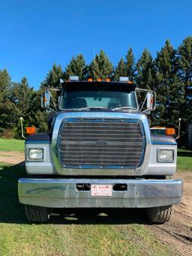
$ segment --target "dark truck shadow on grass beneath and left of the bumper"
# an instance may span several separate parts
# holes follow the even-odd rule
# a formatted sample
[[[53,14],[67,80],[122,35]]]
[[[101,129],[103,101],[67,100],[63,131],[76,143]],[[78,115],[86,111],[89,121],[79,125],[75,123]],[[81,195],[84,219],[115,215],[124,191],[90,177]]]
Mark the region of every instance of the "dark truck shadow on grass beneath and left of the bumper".
[[[0,223],[28,224],[17,192],[18,179],[25,176],[22,163],[15,166],[0,164]],[[71,209],[52,214],[48,223],[148,224],[148,221],[142,209]]]

